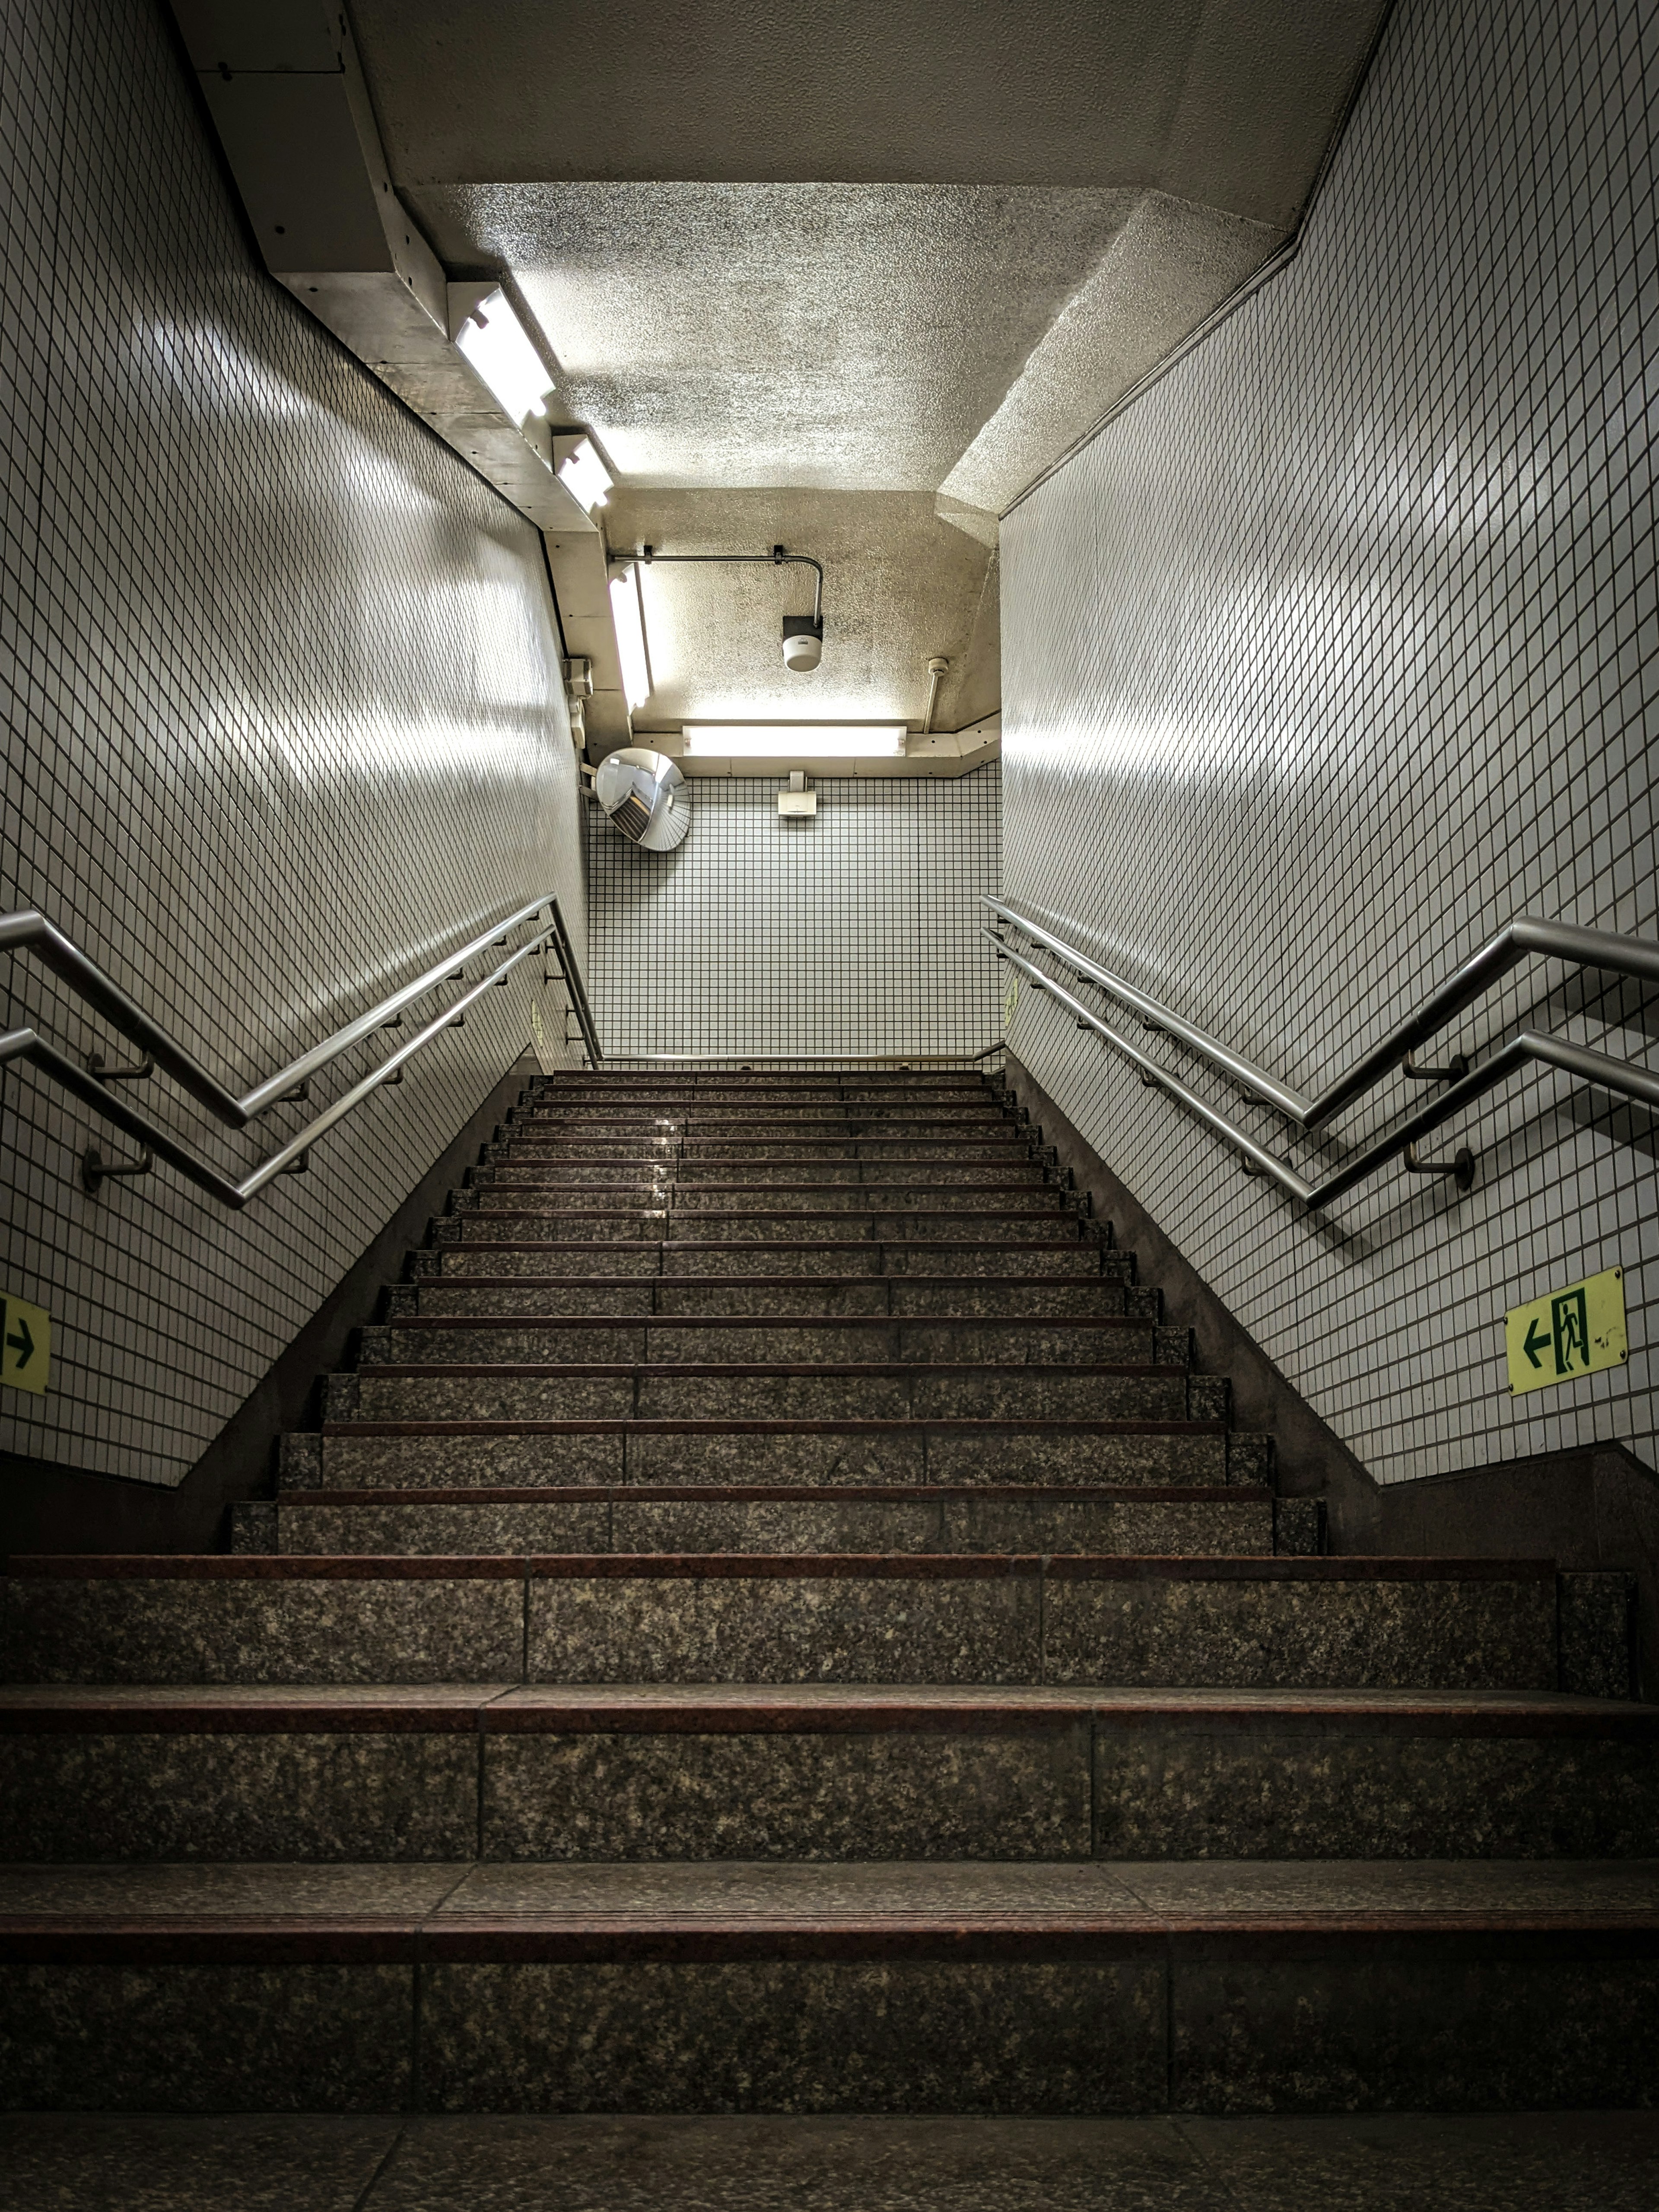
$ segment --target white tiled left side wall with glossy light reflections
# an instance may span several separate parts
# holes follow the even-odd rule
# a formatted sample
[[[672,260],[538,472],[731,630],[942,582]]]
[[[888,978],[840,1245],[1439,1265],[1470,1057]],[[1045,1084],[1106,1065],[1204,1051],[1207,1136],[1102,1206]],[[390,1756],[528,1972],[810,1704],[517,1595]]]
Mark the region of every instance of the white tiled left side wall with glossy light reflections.
[[[0,896],[243,1088],[535,891],[582,933],[542,555],[257,265],[157,0],[31,0],[0,40]],[[131,1057],[27,956],[0,984],[7,1026]],[[243,1214],[166,1168],[88,1197],[86,1144],[131,1146],[7,1071],[4,1287],[55,1352],[44,1398],[4,1391],[0,1444],[177,1482],[540,995],[491,993]],[[237,1172],[301,1113],[232,1137],[166,1082],[131,1095]]]

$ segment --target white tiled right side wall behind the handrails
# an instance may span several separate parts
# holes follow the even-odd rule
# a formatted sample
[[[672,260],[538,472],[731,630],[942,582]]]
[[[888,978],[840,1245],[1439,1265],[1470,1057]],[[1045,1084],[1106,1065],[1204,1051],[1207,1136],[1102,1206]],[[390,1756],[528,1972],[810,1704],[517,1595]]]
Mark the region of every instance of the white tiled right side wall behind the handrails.
[[[1301,257],[1002,529],[1009,898],[1314,1091],[1520,914],[1659,936],[1659,15],[1400,0]],[[1528,1022],[1652,1062],[1544,962]],[[1655,1449],[1652,1119],[1559,1075],[1305,1217],[1026,995],[1013,1051],[1383,1482]],[[1155,1048],[1305,1172],[1327,1144]],[[1511,1400],[1504,1307],[1624,1265],[1630,1363]]]

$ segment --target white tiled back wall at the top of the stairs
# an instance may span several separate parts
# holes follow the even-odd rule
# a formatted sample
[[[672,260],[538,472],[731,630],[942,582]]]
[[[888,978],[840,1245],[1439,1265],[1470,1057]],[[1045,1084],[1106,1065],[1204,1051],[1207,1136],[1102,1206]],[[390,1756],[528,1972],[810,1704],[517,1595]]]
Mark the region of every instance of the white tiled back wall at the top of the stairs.
[[[588,807],[599,1035],[630,1053],[978,1053],[1000,1040],[978,936],[1002,863],[1000,776],[821,779],[785,821],[776,776],[697,776],[675,852]]]

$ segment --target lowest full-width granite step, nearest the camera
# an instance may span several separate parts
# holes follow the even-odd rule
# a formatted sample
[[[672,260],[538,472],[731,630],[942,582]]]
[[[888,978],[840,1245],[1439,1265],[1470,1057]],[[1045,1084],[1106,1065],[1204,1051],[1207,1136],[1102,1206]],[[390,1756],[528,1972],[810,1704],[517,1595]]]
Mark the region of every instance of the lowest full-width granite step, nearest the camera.
[[[0,1955],[9,2108],[1641,2108],[1659,2066],[1644,1860],[20,1867]]]

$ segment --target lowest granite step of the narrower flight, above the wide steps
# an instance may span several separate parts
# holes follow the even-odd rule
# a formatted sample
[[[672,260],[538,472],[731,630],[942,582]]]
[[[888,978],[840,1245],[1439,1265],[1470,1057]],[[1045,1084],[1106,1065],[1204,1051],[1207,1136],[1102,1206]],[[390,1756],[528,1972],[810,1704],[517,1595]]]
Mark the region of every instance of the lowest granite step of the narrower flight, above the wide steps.
[[[232,1506],[234,1551],[1018,1551],[1199,1557],[1272,1553],[1261,1484],[1150,1489],[608,1486],[471,1491],[283,1491]]]

